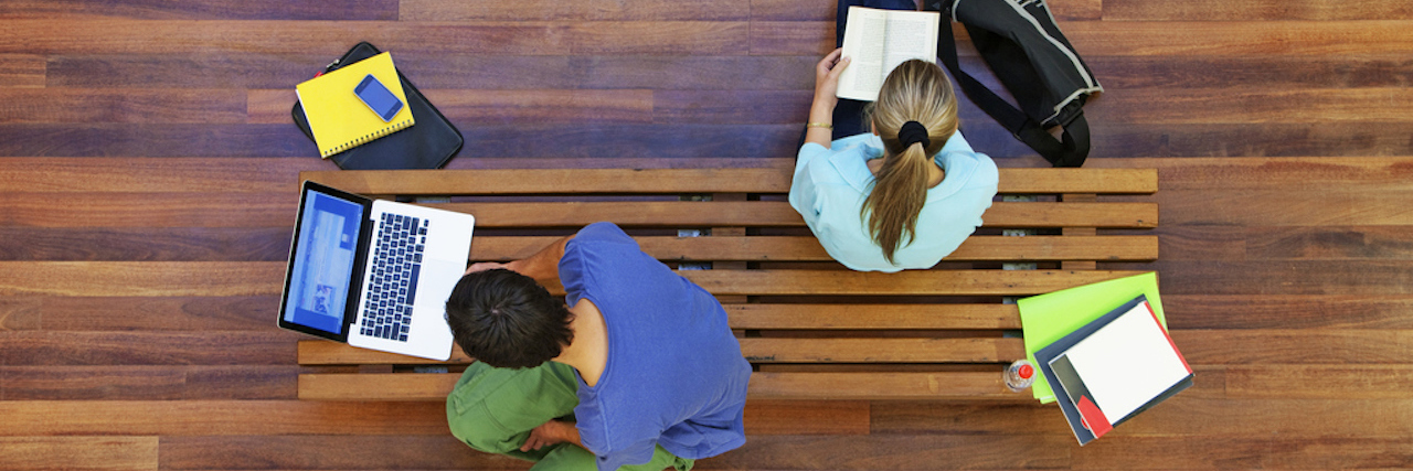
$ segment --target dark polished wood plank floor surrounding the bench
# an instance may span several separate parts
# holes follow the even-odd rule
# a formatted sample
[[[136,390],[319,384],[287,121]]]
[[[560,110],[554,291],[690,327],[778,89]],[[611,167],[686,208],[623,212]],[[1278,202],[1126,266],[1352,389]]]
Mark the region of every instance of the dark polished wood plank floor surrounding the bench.
[[[702,470],[1413,467],[1413,3],[1053,0],[1106,93],[1091,166],[1157,166],[1197,385],[1078,447],[1054,408],[757,402]],[[360,39],[454,168],[790,157],[829,0],[0,1],[0,468],[502,470],[438,403],[295,399],[274,327],[294,85]],[[976,68],[974,54],[964,66]],[[1043,164],[972,106],[1002,166]]]

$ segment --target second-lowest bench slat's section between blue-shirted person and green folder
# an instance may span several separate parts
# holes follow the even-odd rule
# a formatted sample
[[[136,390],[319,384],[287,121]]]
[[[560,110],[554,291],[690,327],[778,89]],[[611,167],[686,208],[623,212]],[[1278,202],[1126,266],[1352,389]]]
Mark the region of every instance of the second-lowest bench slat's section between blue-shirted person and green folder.
[[[1020,338],[740,338],[750,362],[1012,362]]]

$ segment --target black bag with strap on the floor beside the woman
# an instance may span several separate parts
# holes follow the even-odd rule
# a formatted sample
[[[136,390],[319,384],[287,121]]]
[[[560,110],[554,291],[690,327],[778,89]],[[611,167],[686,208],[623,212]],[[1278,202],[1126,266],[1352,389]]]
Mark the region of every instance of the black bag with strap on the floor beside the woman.
[[[1051,165],[1084,165],[1089,155],[1084,102],[1104,87],[1060,34],[1044,0],[927,0],[924,7],[966,28],[976,51],[1020,109],[962,72],[952,28],[941,28],[938,59],[972,103]],[[1064,130],[1061,140],[1046,131],[1056,126]]]

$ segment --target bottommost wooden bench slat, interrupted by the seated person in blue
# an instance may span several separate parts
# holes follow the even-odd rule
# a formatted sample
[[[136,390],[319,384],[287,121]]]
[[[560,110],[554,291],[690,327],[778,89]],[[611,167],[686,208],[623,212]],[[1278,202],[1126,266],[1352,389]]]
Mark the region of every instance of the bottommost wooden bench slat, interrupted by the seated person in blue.
[[[459,374],[304,374],[305,400],[447,400]],[[752,399],[996,399],[1031,402],[996,372],[756,372]]]

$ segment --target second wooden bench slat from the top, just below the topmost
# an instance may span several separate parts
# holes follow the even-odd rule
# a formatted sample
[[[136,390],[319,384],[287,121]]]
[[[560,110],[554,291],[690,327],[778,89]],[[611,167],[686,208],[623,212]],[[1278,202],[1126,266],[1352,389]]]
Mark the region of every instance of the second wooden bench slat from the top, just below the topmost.
[[[804,227],[786,202],[537,202],[427,204],[476,216],[478,227]],[[993,203],[985,227],[1157,227],[1157,203]]]

